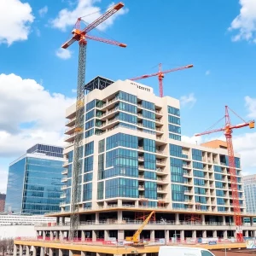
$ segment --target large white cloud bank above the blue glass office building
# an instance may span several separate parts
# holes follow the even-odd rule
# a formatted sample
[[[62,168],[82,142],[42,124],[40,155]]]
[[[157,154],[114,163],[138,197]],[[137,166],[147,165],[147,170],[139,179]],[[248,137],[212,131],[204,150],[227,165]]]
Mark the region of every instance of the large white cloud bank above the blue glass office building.
[[[73,102],[35,80],[0,74],[0,191],[6,189],[7,158],[15,160],[36,143],[63,145],[65,109]]]

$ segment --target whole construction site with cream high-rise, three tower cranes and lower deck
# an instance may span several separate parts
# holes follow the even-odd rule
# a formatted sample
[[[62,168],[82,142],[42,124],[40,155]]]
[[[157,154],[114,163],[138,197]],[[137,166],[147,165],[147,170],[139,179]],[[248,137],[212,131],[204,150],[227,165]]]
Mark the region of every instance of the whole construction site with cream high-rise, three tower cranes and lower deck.
[[[180,102],[164,95],[163,79],[193,72],[192,64],[85,83],[87,39],[126,47],[88,35],[123,7],[114,5],[83,29],[79,18],[62,45],[79,43],[79,72],[77,101],[66,111],[60,212],[47,215],[54,223],[36,226],[37,237],[18,237],[14,255],[154,256],[161,245],[245,248],[246,239],[256,237],[255,216],[246,212],[241,156],[232,144],[232,132],[252,129],[254,121],[226,106],[219,129],[195,135],[222,132],[226,141],[182,142]],[[137,82],[149,77],[158,78],[158,92]],[[239,125],[231,124],[230,113]]]

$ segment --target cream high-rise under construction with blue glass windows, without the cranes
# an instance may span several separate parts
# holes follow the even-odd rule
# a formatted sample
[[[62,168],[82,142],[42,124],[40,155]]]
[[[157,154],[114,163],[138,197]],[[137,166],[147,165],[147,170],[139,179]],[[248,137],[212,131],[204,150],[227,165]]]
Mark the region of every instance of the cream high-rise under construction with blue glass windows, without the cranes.
[[[124,241],[155,211],[141,238],[236,237],[226,144],[181,141],[180,105],[170,96],[131,80],[97,77],[85,85],[84,139],[80,147],[79,232],[82,241]],[[67,108],[67,137],[57,225],[38,235],[68,237],[76,106]],[[196,123],[194,124],[196,125]],[[236,177],[241,216],[251,219],[244,236],[255,236],[246,213],[240,155]]]

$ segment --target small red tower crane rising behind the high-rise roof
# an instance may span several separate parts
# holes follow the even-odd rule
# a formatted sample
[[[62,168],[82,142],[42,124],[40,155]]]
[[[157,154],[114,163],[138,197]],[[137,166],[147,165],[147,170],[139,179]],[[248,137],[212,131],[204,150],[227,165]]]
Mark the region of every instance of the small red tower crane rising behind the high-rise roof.
[[[159,71],[157,73],[145,74],[141,77],[133,78],[133,79],[130,79],[130,80],[136,81],[136,80],[140,80],[140,79],[148,79],[148,78],[151,78],[151,77],[158,76],[159,95],[162,98],[164,96],[163,79],[165,77],[165,73],[171,73],[171,72],[175,72],[175,71],[178,71],[178,70],[183,70],[183,69],[190,68],[190,67],[194,67],[194,66],[192,64],[190,64],[190,65],[187,65],[187,66],[184,66],[184,67],[177,67],[177,68],[172,68],[172,69],[162,71],[162,64],[160,63],[159,64]]]

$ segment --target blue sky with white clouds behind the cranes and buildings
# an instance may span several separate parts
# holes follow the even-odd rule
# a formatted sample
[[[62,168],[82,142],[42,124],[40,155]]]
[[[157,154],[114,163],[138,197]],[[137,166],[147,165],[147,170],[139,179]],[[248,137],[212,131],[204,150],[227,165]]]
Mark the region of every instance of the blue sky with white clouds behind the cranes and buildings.
[[[224,116],[228,105],[243,119],[256,117],[255,0],[128,1],[90,35],[127,48],[89,40],[86,81],[101,75],[131,79],[193,64],[168,73],[164,94],[181,101],[183,140],[224,138],[193,135]],[[82,26],[113,4],[108,0],[0,1],[0,192],[9,163],[35,143],[63,145],[65,109],[75,99],[78,44],[61,49],[78,17]],[[158,94],[156,77],[139,81]],[[241,123],[231,115],[232,123]],[[222,127],[219,123],[215,128]],[[256,131],[235,131],[235,151],[245,174],[256,173]]]

